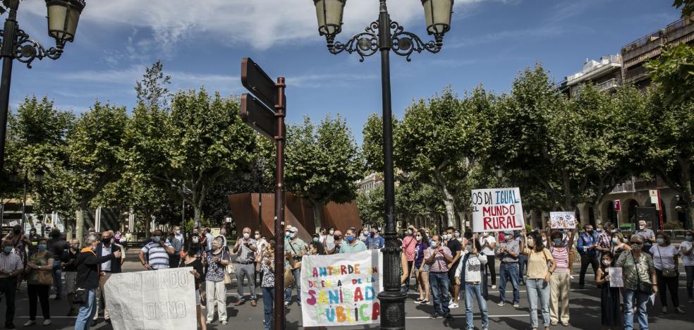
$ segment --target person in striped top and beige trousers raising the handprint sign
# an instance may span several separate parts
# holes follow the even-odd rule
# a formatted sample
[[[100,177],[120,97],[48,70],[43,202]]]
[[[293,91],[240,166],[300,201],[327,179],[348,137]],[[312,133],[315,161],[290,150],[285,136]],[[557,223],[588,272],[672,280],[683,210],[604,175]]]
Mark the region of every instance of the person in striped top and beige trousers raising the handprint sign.
[[[556,269],[549,278],[549,319],[550,324],[556,326],[559,322],[561,325],[568,326],[568,294],[571,291],[571,280],[569,279],[568,271],[568,253],[573,245],[573,240],[576,238],[576,231],[571,230],[571,236],[568,241],[564,240],[561,231],[547,229],[549,237],[552,240],[549,242],[549,252],[552,253]]]

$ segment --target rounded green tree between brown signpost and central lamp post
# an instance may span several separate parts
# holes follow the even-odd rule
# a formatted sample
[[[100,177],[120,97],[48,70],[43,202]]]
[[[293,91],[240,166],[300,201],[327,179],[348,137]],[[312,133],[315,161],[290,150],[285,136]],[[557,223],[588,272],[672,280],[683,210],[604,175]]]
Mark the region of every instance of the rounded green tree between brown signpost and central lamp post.
[[[355,199],[361,172],[357,145],[341,116],[326,116],[318,127],[308,117],[288,126],[286,189],[312,204],[316,229],[325,204]]]

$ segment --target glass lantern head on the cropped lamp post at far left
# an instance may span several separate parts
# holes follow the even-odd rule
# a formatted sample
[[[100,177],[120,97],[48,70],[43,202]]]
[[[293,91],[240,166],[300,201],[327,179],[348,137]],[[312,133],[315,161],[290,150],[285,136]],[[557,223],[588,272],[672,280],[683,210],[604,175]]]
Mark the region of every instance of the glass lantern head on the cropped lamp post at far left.
[[[73,42],[85,0],[46,0],[48,35],[56,39],[58,48]]]

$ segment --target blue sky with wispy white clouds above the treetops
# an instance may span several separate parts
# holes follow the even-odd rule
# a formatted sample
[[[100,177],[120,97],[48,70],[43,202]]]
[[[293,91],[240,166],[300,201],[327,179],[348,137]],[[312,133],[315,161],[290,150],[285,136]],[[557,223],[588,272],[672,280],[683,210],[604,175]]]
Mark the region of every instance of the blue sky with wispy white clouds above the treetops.
[[[195,3],[195,6],[189,4]],[[428,39],[420,0],[390,0],[391,18]],[[377,0],[348,0],[344,40],[377,18]],[[19,23],[52,45],[44,1],[25,0]],[[556,80],[585,59],[617,54],[625,44],[678,19],[670,0],[457,0],[451,32],[439,54],[391,56],[393,111],[451,85],[509,90],[518,71],[540,61]],[[162,59],[171,90],[243,92],[241,58],[251,57],[288,85],[288,121],[341,114],[360,143],[367,116],[381,111],[377,56],[329,54],[317,34],[311,0],[87,0],[75,42],[58,61],[16,62],[11,106],[26,95],[47,95],[76,113],[95,99],[135,104],[135,82]]]

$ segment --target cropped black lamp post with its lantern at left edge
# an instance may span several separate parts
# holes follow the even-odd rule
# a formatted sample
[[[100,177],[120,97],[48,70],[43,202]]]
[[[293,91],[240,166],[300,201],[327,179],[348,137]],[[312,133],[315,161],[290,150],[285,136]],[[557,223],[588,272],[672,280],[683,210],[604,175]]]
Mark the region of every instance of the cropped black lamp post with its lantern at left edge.
[[[7,109],[10,102],[10,82],[13,60],[25,63],[31,68],[35,59],[44,57],[58,59],[63,54],[66,42],[73,42],[80,14],[85,8],[85,0],[46,0],[48,35],[56,39],[56,47],[45,49],[39,42],[30,39],[27,32],[19,28],[17,9],[20,0],[4,0],[8,9],[4,30],[0,30],[0,57],[2,57],[2,78],[0,81],[0,172],[4,169],[5,135],[7,129]]]

